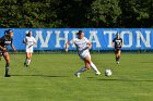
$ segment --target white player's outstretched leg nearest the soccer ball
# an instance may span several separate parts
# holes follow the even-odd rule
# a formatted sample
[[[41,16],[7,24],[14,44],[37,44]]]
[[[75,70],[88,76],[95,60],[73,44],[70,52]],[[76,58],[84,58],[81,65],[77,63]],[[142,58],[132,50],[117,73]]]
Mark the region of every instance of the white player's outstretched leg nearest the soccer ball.
[[[94,72],[95,72],[96,75],[99,75],[101,74],[99,71],[97,70],[96,65],[92,62],[90,54],[87,54],[84,58],[84,61],[94,70]]]

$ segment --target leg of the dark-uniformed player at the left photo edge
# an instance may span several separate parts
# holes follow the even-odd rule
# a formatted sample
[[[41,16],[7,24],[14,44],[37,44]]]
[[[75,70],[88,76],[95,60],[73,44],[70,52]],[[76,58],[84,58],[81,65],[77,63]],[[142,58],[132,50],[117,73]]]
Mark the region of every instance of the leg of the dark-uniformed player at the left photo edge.
[[[9,75],[9,67],[10,67],[10,56],[9,56],[9,52],[4,52],[3,53],[3,58],[5,60],[5,77],[10,77]]]

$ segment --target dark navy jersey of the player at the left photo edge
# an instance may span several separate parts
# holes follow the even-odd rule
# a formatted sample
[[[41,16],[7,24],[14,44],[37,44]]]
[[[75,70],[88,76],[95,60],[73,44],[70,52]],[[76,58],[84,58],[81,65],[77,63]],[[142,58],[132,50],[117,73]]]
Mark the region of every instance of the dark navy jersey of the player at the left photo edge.
[[[7,46],[11,45],[12,41],[13,41],[12,38],[8,38],[7,36],[3,36],[0,38],[0,46],[7,48]]]

